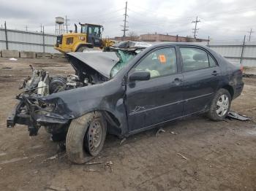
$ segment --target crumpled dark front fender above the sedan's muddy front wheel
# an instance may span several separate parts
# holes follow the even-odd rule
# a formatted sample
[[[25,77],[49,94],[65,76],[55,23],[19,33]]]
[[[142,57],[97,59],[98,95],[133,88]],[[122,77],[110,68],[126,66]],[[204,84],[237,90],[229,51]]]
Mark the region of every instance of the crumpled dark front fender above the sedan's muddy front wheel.
[[[92,111],[107,111],[120,122],[121,132],[127,133],[127,115],[124,106],[125,88],[116,79],[98,85],[89,85],[45,96],[42,101],[56,104],[58,114],[75,119]]]

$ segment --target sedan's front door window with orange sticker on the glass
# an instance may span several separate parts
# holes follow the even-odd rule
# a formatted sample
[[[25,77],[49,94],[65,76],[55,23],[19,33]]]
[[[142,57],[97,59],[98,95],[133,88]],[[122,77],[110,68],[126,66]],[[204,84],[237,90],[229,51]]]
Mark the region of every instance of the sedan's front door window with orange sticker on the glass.
[[[149,71],[151,78],[176,74],[176,60],[174,47],[155,50],[143,58],[143,61],[135,67],[135,71]]]

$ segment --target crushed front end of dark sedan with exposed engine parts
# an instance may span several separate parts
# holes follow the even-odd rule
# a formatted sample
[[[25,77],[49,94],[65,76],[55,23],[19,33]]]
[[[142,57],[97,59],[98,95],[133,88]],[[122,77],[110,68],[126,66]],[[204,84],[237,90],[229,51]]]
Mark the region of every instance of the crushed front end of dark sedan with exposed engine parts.
[[[31,70],[32,76],[24,79],[20,86],[24,91],[16,96],[18,104],[7,117],[7,128],[16,124],[27,125],[30,136],[36,136],[41,126],[52,135],[67,132],[69,122],[74,117],[61,98],[48,99],[47,95],[84,84],[78,82],[75,75],[50,77],[48,72],[42,69],[31,67]]]

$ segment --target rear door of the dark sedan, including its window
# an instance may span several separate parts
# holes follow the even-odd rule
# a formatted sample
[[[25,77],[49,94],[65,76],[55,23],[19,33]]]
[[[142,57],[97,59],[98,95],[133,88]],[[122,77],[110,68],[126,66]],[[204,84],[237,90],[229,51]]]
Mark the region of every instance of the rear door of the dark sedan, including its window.
[[[206,109],[219,87],[220,69],[214,57],[200,47],[180,47],[184,74],[184,115]]]

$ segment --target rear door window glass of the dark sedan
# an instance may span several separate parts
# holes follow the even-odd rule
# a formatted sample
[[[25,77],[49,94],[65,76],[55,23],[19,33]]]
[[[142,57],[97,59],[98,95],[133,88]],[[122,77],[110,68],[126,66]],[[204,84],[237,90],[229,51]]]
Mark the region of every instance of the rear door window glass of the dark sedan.
[[[206,69],[208,67],[215,66],[216,63],[207,54],[207,52],[194,48],[194,47],[180,47],[181,58],[183,61],[183,71],[192,71],[197,69]],[[208,58],[209,57],[209,58]],[[211,58],[209,62],[208,59]]]

